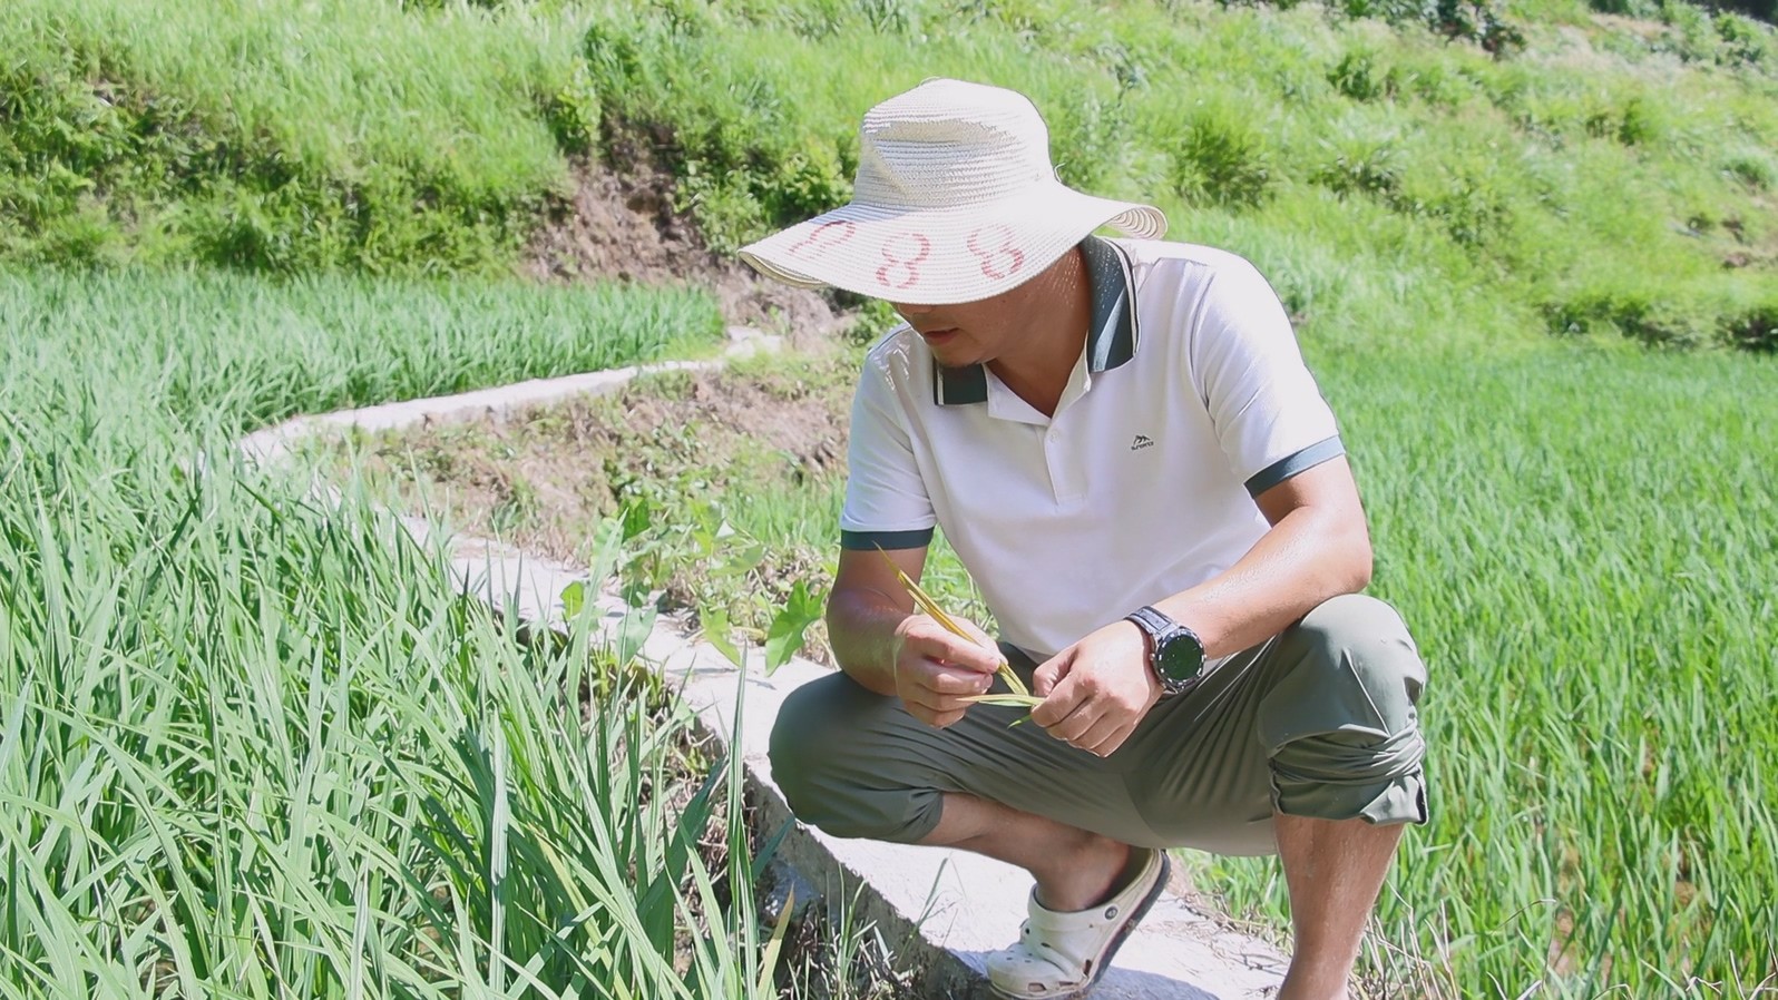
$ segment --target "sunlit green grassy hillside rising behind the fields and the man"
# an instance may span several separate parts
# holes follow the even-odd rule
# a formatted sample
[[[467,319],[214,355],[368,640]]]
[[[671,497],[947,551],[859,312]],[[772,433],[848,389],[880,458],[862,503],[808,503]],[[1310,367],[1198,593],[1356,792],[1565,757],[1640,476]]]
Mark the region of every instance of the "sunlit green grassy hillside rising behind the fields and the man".
[[[958,75],[1029,92],[1065,179],[1253,258],[1310,337],[1769,346],[1778,43],[1654,12],[1504,11],[1526,43],[1488,53],[1319,7],[14,0],[0,254],[500,272],[571,156],[638,142],[729,250],[846,197],[861,108]]]

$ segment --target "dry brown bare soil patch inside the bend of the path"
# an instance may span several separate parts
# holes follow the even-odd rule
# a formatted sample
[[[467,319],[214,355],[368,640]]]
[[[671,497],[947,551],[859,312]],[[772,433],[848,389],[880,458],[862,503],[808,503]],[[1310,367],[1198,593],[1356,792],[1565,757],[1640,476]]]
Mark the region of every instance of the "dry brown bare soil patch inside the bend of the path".
[[[599,519],[640,494],[697,485],[720,499],[761,478],[837,476],[850,400],[836,352],[791,371],[658,375],[503,421],[379,435],[357,460],[461,529],[581,561]]]

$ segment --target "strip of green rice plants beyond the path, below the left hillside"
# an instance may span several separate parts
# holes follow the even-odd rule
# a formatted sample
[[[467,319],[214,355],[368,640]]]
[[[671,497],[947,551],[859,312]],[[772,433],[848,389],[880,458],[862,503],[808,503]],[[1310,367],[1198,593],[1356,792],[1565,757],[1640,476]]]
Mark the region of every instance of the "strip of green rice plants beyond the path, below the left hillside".
[[[0,410],[20,421],[247,430],[325,412],[709,350],[690,288],[532,288],[217,272],[0,274]]]

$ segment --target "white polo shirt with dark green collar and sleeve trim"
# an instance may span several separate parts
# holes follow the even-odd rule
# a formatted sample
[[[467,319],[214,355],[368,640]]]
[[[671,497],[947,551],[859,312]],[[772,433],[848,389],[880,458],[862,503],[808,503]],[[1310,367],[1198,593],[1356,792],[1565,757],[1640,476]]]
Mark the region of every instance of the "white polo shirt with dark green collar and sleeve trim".
[[[1236,563],[1261,492],[1344,453],[1277,293],[1209,247],[1088,238],[1093,325],[1045,417],[985,366],[939,368],[909,327],[852,403],[846,549],[939,526],[1037,659]]]

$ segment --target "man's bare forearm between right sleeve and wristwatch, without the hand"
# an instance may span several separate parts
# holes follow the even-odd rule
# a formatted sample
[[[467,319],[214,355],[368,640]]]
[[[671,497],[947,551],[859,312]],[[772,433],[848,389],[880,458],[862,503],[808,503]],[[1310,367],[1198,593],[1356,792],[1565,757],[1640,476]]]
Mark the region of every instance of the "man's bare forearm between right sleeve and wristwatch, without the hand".
[[[1298,508],[1229,570],[1156,604],[1204,641],[1209,657],[1252,648],[1321,602],[1371,583],[1362,519]]]

